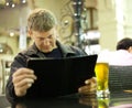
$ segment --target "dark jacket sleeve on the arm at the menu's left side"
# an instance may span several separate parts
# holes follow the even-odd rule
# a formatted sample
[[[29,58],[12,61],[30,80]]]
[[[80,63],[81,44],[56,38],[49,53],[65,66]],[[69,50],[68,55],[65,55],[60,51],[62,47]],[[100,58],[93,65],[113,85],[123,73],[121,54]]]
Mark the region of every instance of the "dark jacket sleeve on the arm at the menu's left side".
[[[11,64],[11,68],[10,68],[10,75],[9,75],[9,79],[7,82],[7,86],[6,86],[6,97],[10,102],[13,102],[15,99],[18,99],[19,97],[15,96],[14,94],[14,86],[12,83],[12,75],[13,73],[21,67],[26,67],[26,57],[22,54],[19,53],[15,57],[14,61]]]

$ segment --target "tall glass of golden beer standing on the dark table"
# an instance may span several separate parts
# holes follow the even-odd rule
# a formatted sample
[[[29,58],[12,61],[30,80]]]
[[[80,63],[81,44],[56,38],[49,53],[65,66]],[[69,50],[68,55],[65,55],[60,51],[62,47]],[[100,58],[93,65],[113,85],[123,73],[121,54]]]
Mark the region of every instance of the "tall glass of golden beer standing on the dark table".
[[[97,77],[97,97],[107,98],[109,97],[109,64],[97,63],[95,67]]]

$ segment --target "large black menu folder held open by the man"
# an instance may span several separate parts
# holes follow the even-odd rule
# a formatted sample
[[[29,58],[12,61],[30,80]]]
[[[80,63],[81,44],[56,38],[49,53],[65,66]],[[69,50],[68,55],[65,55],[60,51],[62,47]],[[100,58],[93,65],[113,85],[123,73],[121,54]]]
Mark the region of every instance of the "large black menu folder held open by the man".
[[[97,55],[67,58],[31,58],[28,67],[37,79],[26,97],[58,97],[75,94],[85,80],[95,76]]]

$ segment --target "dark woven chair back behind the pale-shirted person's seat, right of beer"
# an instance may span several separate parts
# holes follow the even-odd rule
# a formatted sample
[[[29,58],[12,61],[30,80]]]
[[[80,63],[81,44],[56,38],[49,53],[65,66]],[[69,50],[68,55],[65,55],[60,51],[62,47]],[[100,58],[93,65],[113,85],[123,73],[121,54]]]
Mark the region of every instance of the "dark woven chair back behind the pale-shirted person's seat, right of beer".
[[[109,89],[112,94],[124,94],[125,91],[132,93],[132,66],[110,65]]]

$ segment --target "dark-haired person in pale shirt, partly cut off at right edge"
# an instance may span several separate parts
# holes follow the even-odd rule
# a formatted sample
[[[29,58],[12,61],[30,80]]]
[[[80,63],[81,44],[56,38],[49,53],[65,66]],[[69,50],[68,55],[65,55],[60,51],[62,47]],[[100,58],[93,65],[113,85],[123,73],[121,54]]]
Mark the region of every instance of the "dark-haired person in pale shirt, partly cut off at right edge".
[[[116,48],[117,50],[113,52],[101,52],[98,56],[98,61],[106,61],[109,65],[132,65],[132,39],[124,37],[120,40]]]

